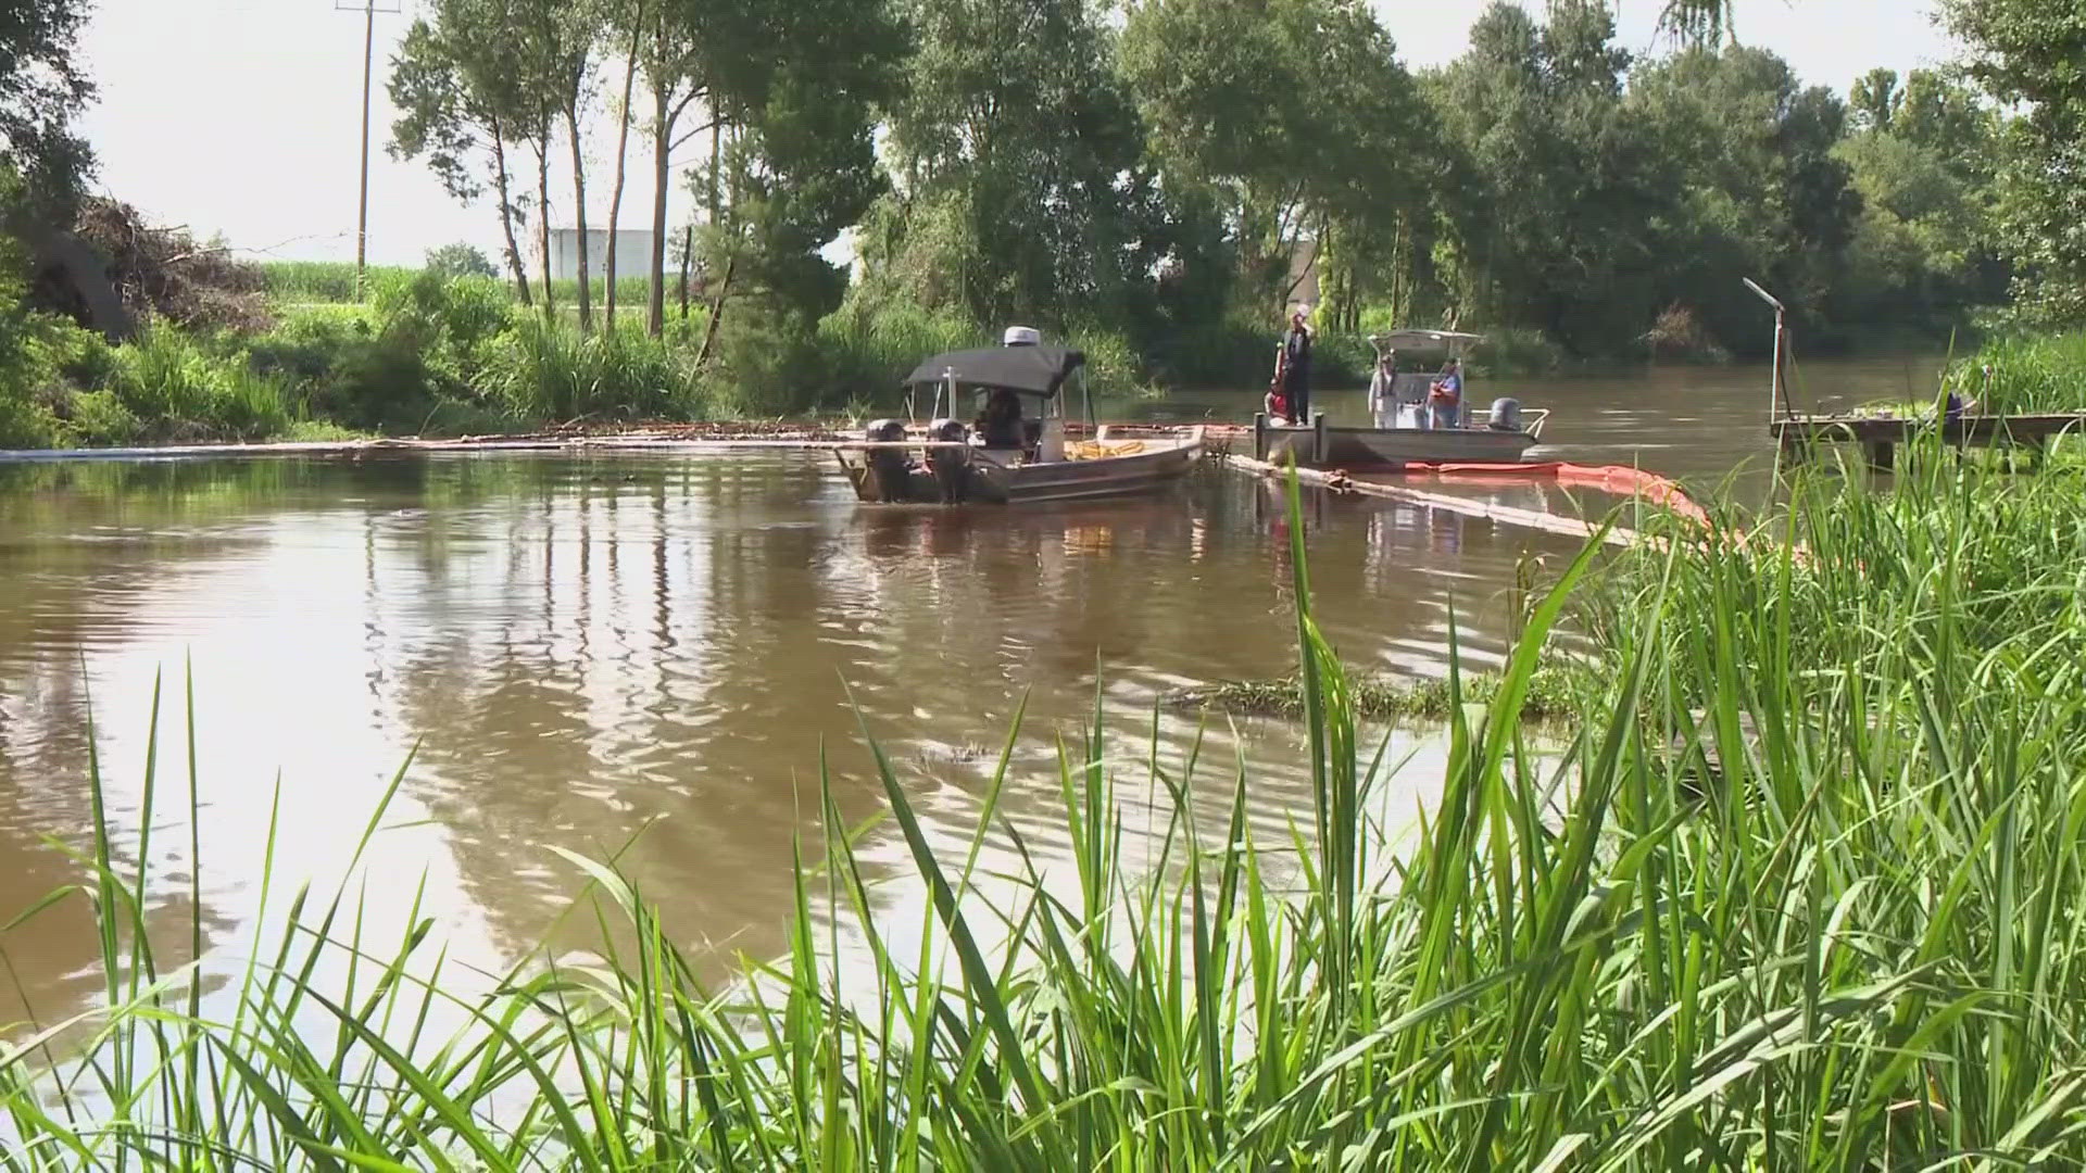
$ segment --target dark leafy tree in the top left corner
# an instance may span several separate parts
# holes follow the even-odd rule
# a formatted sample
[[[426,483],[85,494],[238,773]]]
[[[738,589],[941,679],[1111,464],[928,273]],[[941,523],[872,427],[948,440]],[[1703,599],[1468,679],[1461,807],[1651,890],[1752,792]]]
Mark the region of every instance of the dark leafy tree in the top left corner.
[[[0,4],[0,159],[19,175],[13,207],[65,223],[94,167],[73,115],[94,96],[73,63],[88,6],[77,0]]]

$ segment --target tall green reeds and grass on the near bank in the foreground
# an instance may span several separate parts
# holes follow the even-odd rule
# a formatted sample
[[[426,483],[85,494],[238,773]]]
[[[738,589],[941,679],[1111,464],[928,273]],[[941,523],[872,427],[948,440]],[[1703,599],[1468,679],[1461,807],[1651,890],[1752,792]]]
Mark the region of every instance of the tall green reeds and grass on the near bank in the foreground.
[[[2078,486],[1923,447],[1888,495],[1796,486],[1781,530],[1802,561],[1692,526],[1608,566],[1592,543],[1489,701],[1450,710],[1439,801],[1393,854],[1366,814],[1383,756],[1358,741],[1293,524],[1314,810],[1291,841],[1256,839],[1243,768],[1112,760],[1091,735],[1060,749],[1060,895],[995,820],[1010,758],[980,839],[937,856],[866,731],[930,893],[926,945],[878,933],[820,797],[791,954],[728,989],[586,862],[622,920],[603,964],[530,958],[455,998],[417,916],[378,948],[350,897],[298,893],[236,1010],[204,1021],[142,943],[142,881],[102,829],[106,1006],[86,1044],[6,1054],[4,1160],[2078,1167]],[[1606,674],[1537,747],[1517,718],[1567,607]],[[1229,818],[1177,801],[1160,866],[1133,868],[1114,789],[1181,797],[1197,774],[1231,779]],[[980,891],[987,829],[1028,860],[1012,900]],[[868,973],[834,973],[820,906],[855,914]],[[344,979],[317,977],[328,958]]]

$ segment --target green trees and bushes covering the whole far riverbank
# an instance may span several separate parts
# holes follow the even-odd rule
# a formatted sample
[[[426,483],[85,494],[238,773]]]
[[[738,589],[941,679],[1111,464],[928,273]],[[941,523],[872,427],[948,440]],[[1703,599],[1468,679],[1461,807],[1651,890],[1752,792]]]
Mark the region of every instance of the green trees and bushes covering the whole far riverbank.
[[[0,92],[21,144],[0,442],[889,407],[920,353],[1008,321],[1085,346],[1108,392],[1252,388],[1304,296],[1329,386],[1364,380],[1371,330],[1410,324],[1487,332],[1491,372],[1754,357],[1769,334],[1742,276],[1794,307],[1806,353],[2063,324],[2069,213],[2034,175],[2076,142],[2076,94],[2017,6],[1946,8],[1986,90],[2034,98],[2023,117],[1944,71],[1804,86],[1698,19],[1721,4],[1671,6],[1650,56],[1598,0],[1496,4],[1462,56],[1414,71],[1350,0],[1168,0],[1120,23],[1093,0],[1020,19],[1003,0],[442,0],[388,63],[388,146],[503,244],[357,288],[83,198],[79,4],[42,0],[0,29],[50,79]],[[580,150],[597,121],[620,144],[605,167]],[[693,223],[665,219],[672,190]],[[582,244],[595,278],[551,280],[549,230],[601,221],[653,230],[645,271]],[[119,305],[81,292],[73,242]],[[159,357],[117,357],[131,346]]]

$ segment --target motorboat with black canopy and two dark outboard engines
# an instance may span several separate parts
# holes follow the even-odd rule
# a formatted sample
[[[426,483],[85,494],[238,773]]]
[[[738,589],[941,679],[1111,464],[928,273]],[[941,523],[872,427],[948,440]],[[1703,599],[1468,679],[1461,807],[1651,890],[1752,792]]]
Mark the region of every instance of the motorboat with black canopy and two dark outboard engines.
[[[834,445],[855,497],[947,505],[1066,501],[1158,488],[1193,468],[1202,428],[1124,438],[1103,426],[1091,440],[1068,445],[1062,388],[1087,355],[1035,338],[1035,330],[1016,326],[1005,346],[951,351],[920,363],[905,386],[928,390],[947,415],[937,413],[924,430],[876,420],[862,440]],[[976,428],[951,417],[966,392],[983,409]]]

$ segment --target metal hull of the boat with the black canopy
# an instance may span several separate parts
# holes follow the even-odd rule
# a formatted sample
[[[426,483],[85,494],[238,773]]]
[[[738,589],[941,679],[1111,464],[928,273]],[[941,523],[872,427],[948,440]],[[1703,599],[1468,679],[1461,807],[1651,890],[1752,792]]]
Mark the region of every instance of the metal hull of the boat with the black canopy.
[[[1103,451],[1110,447],[1106,434],[1097,442]],[[983,449],[922,449],[918,455],[893,449],[834,449],[834,453],[849,484],[855,486],[855,497],[866,503],[1028,505],[1126,497],[1164,488],[1202,459],[1202,428],[1195,428],[1187,438],[1118,440],[1114,445],[1124,453],[1039,463],[1001,461]],[[1131,445],[1158,447],[1131,451]]]

